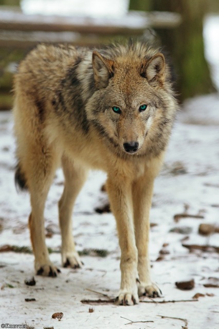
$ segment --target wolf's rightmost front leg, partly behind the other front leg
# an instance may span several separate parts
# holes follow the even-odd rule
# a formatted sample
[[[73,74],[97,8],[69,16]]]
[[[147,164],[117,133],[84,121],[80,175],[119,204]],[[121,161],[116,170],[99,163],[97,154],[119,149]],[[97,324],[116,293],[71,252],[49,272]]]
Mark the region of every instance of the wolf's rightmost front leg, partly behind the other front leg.
[[[135,223],[135,239],[138,249],[138,295],[160,297],[161,291],[151,280],[151,265],[149,256],[149,213],[153,195],[154,178],[150,173],[140,177],[132,186],[133,209]]]

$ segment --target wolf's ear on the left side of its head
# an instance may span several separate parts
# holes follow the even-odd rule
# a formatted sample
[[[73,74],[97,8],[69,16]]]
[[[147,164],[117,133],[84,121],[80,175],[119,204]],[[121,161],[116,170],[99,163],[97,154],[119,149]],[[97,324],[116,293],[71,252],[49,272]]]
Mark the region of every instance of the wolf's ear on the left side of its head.
[[[92,65],[95,85],[98,89],[105,88],[108,85],[108,80],[113,77],[113,64],[112,60],[103,57],[98,51],[93,51]]]

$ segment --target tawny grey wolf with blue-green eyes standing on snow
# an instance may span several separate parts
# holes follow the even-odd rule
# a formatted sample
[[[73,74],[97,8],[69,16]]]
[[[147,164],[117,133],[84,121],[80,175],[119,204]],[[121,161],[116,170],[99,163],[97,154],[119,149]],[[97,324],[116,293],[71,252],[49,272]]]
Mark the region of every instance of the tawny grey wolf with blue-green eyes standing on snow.
[[[149,213],[154,179],[167,149],[178,103],[159,49],[129,41],[89,49],[40,44],[14,78],[15,182],[30,193],[29,228],[38,275],[60,272],[45,244],[44,207],[56,169],[62,264],[82,262],[71,215],[89,169],[107,173],[106,189],[121,248],[119,305],[159,297],[151,279]]]

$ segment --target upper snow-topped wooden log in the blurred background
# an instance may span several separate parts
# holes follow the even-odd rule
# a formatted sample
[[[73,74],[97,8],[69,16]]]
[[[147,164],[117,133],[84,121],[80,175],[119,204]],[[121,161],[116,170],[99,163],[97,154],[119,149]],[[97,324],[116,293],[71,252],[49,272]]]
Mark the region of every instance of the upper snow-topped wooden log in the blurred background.
[[[180,23],[175,13],[130,11],[122,17],[88,17],[58,15],[26,15],[0,10],[0,29],[16,31],[73,31],[80,33],[138,35],[149,27],[174,27]]]

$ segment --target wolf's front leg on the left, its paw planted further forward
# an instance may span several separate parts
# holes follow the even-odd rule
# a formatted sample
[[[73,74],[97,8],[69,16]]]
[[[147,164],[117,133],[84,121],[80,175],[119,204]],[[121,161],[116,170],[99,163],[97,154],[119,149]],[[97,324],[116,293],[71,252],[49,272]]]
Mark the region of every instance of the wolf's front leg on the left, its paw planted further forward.
[[[112,211],[116,217],[119,244],[121,248],[121,286],[116,299],[119,305],[138,303],[137,248],[132,209],[131,184],[118,176],[107,181],[107,192]]]

